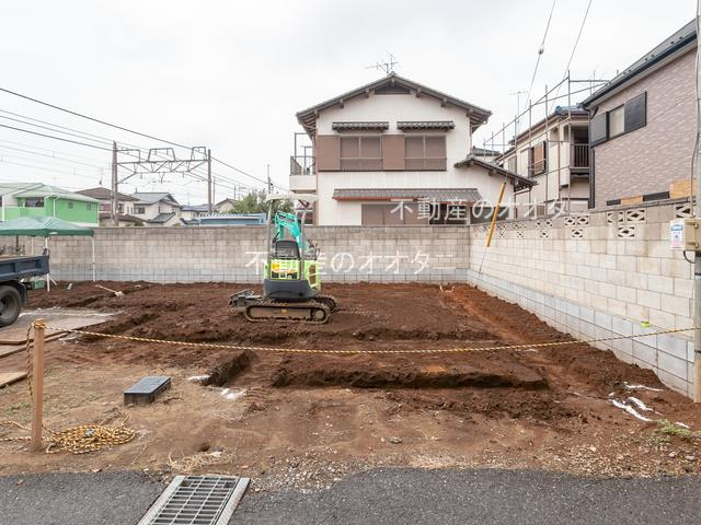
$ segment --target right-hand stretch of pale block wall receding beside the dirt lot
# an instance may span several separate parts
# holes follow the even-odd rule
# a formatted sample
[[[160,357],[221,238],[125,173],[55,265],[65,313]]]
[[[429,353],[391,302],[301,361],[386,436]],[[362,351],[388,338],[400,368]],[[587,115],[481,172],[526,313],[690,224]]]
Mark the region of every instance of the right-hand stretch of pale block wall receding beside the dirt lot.
[[[688,202],[471,226],[468,281],[581,339],[681,329],[692,322],[692,265],[669,249]],[[642,323],[648,322],[650,328]],[[601,342],[691,395],[691,331]]]

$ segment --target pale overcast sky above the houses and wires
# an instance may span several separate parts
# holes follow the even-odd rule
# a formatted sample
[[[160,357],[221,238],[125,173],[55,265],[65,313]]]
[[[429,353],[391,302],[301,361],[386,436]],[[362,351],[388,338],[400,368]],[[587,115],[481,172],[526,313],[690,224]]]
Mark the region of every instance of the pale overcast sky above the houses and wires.
[[[174,142],[207,145],[215,158],[260,178],[269,164],[275,184],[286,187],[292,133],[301,130],[295,113],[382,77],[366,67],[388,51],[399,60],[399,74],[491,109],[475,137],[481,142],[513,118],[512,93],[528,90],[551,5],[552,0],[3,2],[0,88]],[[533,98],[563,78],[586,7],[586,0],[556,0]],[[694,0],[593,0],[573,78],[611,78],[694,13]],[[99,147],[108,144],[32,127],[25,117],[119,143],[163,145],[5,93],[0,110],[21,115],[0,113],[0,125]],[[3,182],[70,189],[101,179],[110,185],[111,153],[100,149],[0,128],[0,160]],[[231,180],[260,185],[220,164],[214,171],[220,177],[217,200],[232,194]],[[163,183],[137,176],[124,187],[135,188],[172,191],[184,203],[206,200],[202,182],[180,175]]]

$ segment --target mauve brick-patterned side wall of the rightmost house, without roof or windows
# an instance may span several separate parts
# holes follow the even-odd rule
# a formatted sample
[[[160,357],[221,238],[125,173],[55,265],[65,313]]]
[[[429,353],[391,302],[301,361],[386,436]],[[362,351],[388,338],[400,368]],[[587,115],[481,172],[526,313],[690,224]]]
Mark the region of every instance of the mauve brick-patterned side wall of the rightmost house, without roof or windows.
[[[696,138],[694,58],[690,50],[598,106],[613,109],[647,92],[647,125],[594,147],[595,206],[669,190],[689,178]]]

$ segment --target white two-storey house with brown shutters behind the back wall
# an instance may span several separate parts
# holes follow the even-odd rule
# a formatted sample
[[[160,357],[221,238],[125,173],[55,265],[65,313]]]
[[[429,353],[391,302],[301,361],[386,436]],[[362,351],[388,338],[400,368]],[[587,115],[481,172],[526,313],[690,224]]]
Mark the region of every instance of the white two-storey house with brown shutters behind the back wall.
[[[532,184],[471,154],[490,115],[391,73],[297,114],[313,154],[290,160],[290,190],[317,194],[315,224],[469,222],[504,180],[505,200]]]

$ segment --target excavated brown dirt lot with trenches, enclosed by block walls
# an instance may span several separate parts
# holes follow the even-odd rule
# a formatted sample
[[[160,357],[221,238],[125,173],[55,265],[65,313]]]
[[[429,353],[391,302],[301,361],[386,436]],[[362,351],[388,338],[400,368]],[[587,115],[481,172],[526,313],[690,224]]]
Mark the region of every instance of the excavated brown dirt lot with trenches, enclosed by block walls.
[[[475,289],[329,285],[341,310],[326,325],[248,323],[228,306],[233,284],[80,283],[32,295],[31,307],[115,313],[101,332],[276,348],[368,350],[292,354],[194,349],[118,339],[47,346],[46,424],[115,423],[133,442],[85,455],[0,447],[0,474],[147,469],[235,472],[257,488],[324,487],[378,465],[499,466],[597,476],[701,471],[701,410],[652,372],[586,345],[473,353],[384,354],[379,349],[506,346],[568,339]],[[21,366],[24,355],[0,360]],[[173,376],[154,405],[124,407],[143,375]],[[205,385],[188,381],[206,376]],[[630,389],[625,385],[648,388]],[[651,410],[643,410],[634,397]],[[612,405],[628,402],[652,421]],[[0,419],[28,421],[26,383],[0,390]],[[20,435],[0,428],[3,435]]]

